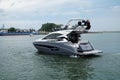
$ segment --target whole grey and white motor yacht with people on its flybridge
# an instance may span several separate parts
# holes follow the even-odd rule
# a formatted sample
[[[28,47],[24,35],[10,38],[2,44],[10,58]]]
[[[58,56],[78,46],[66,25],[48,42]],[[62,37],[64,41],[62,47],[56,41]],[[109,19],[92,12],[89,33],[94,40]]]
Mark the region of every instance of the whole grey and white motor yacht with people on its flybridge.
[[[72,21],[77,21],[78,26],[70,25]],[[53,31],[43,38],[37,39],[33,44],[38,51],[48,54],[97,55],[102,51],[94,49],[88,40],[81,39],[81,34],[88,32],[91,27],[85,21],[70,19],[63,29]]]

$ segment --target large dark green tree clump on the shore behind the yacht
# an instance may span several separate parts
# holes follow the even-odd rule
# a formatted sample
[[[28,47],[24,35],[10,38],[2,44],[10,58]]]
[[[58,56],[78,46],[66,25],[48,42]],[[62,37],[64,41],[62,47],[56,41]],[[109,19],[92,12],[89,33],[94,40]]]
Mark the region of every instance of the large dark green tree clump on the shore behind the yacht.
[[[42,27],[39,29],[39,31],[47,31],[51,32],[55,28],[60,28],[62,24],[55,24],[55,23],[45,23],[42,24]]]

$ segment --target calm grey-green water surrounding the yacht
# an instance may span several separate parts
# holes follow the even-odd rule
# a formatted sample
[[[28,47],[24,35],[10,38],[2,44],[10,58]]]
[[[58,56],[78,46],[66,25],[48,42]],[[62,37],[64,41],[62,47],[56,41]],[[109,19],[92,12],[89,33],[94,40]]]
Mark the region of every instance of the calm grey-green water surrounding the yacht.
[[[79,58],[37,52],[42,36],[0,36],[0,80],[120,80],[120,33],[82,35],[103,53]]]

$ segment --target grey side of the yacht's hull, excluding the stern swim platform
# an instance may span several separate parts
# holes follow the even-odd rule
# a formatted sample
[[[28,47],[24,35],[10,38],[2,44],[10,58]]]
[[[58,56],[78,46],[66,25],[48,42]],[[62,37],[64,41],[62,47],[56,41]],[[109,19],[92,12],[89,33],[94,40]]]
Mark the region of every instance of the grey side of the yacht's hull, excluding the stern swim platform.
[[[73,55],[75,54],[74,48],[59,43],[49,42],[34,42],[34,46],[38,51],[48,54],[62,54],[62,55]]]

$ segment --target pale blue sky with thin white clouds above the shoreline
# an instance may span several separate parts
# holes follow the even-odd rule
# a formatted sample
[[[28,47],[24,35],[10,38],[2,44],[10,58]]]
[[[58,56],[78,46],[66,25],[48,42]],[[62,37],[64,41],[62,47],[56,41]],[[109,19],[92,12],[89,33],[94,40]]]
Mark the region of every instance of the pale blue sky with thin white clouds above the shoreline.
[[[91,31],[120,31],[120,0],[0,0],[0,28],[39,29],[89,19]]]

